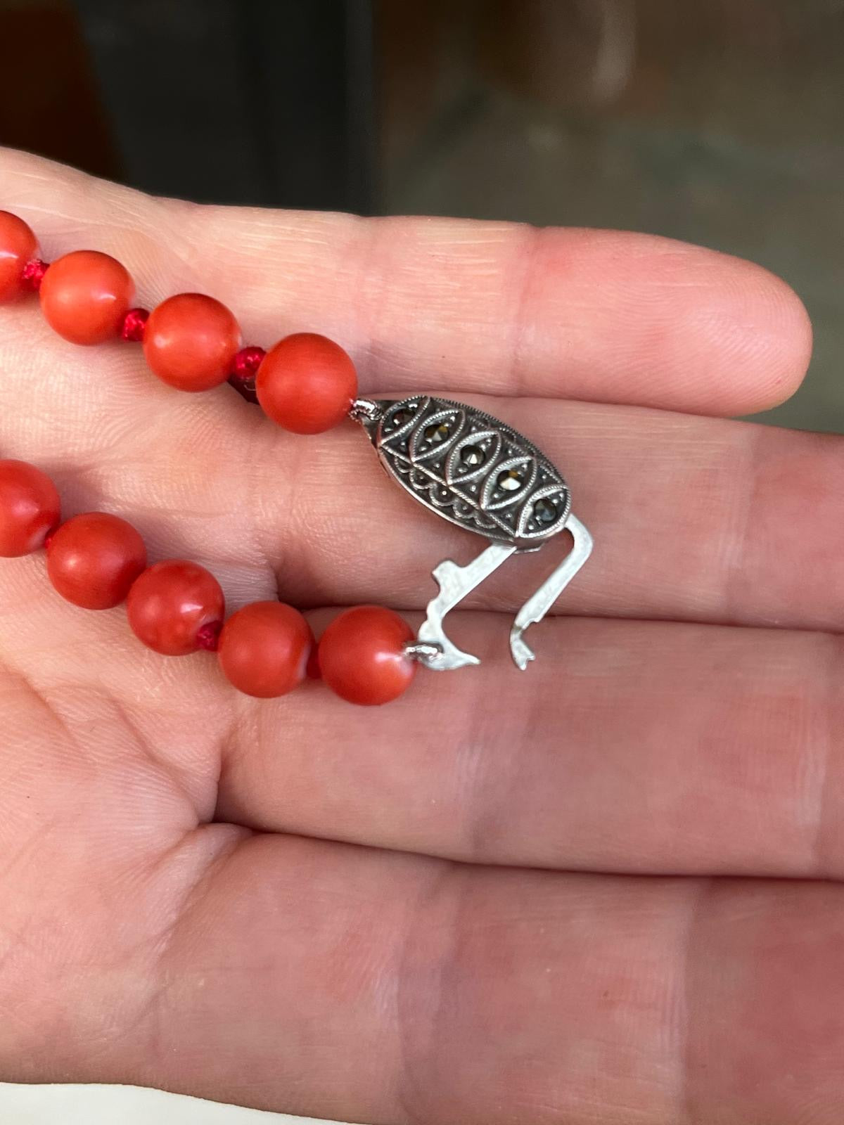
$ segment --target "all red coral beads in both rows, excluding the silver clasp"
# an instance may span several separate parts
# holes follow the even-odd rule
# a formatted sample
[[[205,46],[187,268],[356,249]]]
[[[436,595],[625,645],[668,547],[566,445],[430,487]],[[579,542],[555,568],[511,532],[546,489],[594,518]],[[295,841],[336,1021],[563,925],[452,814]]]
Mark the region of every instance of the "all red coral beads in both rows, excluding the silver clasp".
[[[0,212],[0,302],[38,291],[47,323],[64,339],[140,342],[163,382],[201,392],[228,380],[294,433],[321,433],[348,416],[357,372],[347,352],[327,338],[295,333],[267,352],[241,348],[234,315],[213,297],[177,294],[149,313],[132,307],[132,278],[109,254],[73,251],[47,264],[36,253],[27,224]],[[129,624],[147,647],[164,655],[217,649],[230,681],[248,694],[284,694],[304,677],[313,638],[297,611],[255,603],[224,627],[223,592],[205,568],[167,560],[144,569],[137,532],[104,513],[77,516],[51,534],[60,514],[52,483],[30,466],[7,469],[7,476],[6,512],[0,476],[0,554],[5,548],[26,554],[50,537],[48,573],[68,601],[107,609],[127,600]],[[410,627],[398,614],[358,606],[325,631],[316,664],[343,699],[379,704],[410,685],[415,672],[411,642]]]

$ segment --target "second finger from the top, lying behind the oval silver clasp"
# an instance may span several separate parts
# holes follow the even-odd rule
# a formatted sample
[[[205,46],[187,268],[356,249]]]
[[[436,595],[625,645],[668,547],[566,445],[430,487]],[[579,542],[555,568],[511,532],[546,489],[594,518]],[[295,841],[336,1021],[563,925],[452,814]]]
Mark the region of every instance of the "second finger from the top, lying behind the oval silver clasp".
[[[562,467],[593,534],[557,612],[844,628],[842,438],[636,408],[474,402]],[[259,441],[250,488],[258,543],[285,600],[422,609],[436,593],[432,567],[481,550],[386,482],[351,428],[280,446]],[[505,564],[465,605],[513,613],[563,557],[565,538]]]

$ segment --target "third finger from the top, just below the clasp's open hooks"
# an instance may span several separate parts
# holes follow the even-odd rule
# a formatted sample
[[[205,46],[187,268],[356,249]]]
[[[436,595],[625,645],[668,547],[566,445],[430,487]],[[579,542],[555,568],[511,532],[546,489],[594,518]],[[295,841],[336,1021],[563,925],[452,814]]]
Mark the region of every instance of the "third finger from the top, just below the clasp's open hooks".
[[[217,816],[523,866],[844,876],[844,648],[775,630],[556,619],[521,677],[420,670],[372,714],[317,688],[243,709]],[[322,685],[320,685],[322,686]]]

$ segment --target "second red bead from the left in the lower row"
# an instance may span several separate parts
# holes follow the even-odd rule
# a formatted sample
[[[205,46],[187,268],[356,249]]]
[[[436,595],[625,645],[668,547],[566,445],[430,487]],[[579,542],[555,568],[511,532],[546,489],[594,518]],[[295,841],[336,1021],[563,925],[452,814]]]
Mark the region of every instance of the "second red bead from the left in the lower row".
[[[145,566],[138,532],[108,512],[74,515],[47,544],[50,580],[62,597],[84,610],[119,605]]]

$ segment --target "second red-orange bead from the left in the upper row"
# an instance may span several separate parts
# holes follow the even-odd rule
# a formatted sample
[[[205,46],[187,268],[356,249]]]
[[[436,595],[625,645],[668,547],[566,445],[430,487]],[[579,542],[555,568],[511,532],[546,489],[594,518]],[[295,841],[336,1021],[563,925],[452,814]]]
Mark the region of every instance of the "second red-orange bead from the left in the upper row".
[[[98,250],[74,250],[47,267],[39,289],[50,326],[74,344],[119,336],[135,296],[128,271]]]

